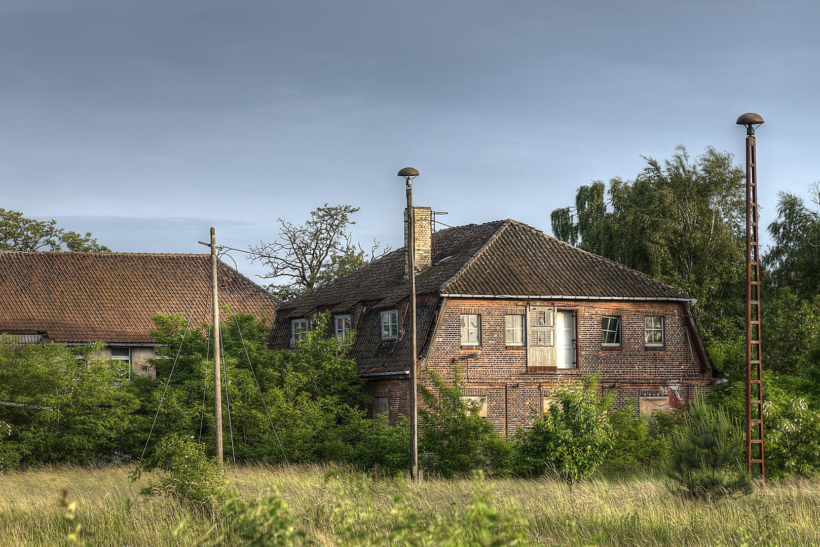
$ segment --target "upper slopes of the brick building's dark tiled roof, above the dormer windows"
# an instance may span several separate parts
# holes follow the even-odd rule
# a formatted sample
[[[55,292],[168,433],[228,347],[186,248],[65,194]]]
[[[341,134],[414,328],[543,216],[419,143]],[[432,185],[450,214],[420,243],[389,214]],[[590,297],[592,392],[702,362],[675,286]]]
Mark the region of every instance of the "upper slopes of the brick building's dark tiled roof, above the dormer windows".
[[[416,277],[418,294],[683,300],[689,295],[508,219],[435,233],[432,266]],[[405,298],[403,248],[280,306],[293,317],[335,304]]]

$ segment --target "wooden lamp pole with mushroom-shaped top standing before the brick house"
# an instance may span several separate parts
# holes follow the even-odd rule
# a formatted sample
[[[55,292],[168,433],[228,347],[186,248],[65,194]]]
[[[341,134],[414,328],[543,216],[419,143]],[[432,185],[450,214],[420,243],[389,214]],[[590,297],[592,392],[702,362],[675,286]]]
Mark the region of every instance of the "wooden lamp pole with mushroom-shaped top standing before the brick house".
[[[408,282],[410,285],[410,474],[413,482],[418,482],[418,405],[417,405],[417,348],[416,348],[416,270],[413,259],[416,254],[416,214],[412,209],[412,180],[419,172],[412,167],[404,167],[399,176],[404,177],[408,194]]]

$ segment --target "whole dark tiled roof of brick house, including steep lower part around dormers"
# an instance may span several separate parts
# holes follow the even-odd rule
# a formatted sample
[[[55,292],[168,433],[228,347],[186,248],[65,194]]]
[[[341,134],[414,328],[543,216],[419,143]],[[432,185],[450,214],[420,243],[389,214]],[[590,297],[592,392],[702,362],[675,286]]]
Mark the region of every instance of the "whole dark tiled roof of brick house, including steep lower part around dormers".
[[[435,325],[440,294],[689,298],[640,271],[572,247],[513,220],[441,230],[435,233],[433,244],[432,266],[416,277],[417,294],[428,295],[418,299],[420,353]],[[404,249],[399,248],[348,276],[281,304],[271,330],[271,347],[288,347],[290,318],[327,310],[352,312],[356,341],[350,355],[356,359],[359,373],[405,370],[409,343],[404,330],[399,340],[393,341],[381,340],[379,330],[380,310],[394,309],[407,301],[404,261]]]

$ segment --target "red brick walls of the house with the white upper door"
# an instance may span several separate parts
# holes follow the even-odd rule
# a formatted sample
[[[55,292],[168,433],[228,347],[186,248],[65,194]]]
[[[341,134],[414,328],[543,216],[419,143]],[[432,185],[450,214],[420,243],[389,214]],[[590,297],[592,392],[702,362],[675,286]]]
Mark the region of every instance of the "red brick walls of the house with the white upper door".
[[[536,302],[531,302],[536,304]],[[487,418],[502,434],[532,422],[542,411],[544,398],[556,386],[577,381],[581,374],[601,373],[605,392],[617,391],[617,403],[626,399],[668,396],[672,408],[683,408],[695,394],[708,390],[712,376],[701,362],[693,335],[686,327],[685,303],[658,301],[552,301],[537,302],[575,313],[576,368],[528,372],[526,346],[506,344],[505,316],[524,314],[527,302],[504,299],[449,299],[435,332],[429,358],[421,363],[420,381],[430,385],[429,370],[453,378],[456,359],[462,367],[465,395],[487,400]],[[481,344],[461,344],[462,313],[481,315]],[[603,347],[601,317],[621,317],[621,344]],[[663,346],[645,345],[645,316],[663,317]],[[465,358],[480,353],[481,358]],[[368,378],[367,393],[387,397],[390,422],[409,413],[407,376]]]

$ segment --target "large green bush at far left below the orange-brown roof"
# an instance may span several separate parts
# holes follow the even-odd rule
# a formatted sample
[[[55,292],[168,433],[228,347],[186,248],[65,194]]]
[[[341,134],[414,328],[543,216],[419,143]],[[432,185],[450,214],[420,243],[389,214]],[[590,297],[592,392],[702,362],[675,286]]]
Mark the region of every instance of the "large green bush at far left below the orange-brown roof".
[[[44,342],[18,349],[14,341],[0,343],[0,400],[11,403],[0,405],[0,420],[11,426],[2,453],[24,466],[118,458],[139,402],[94,356],[102,346]]]

